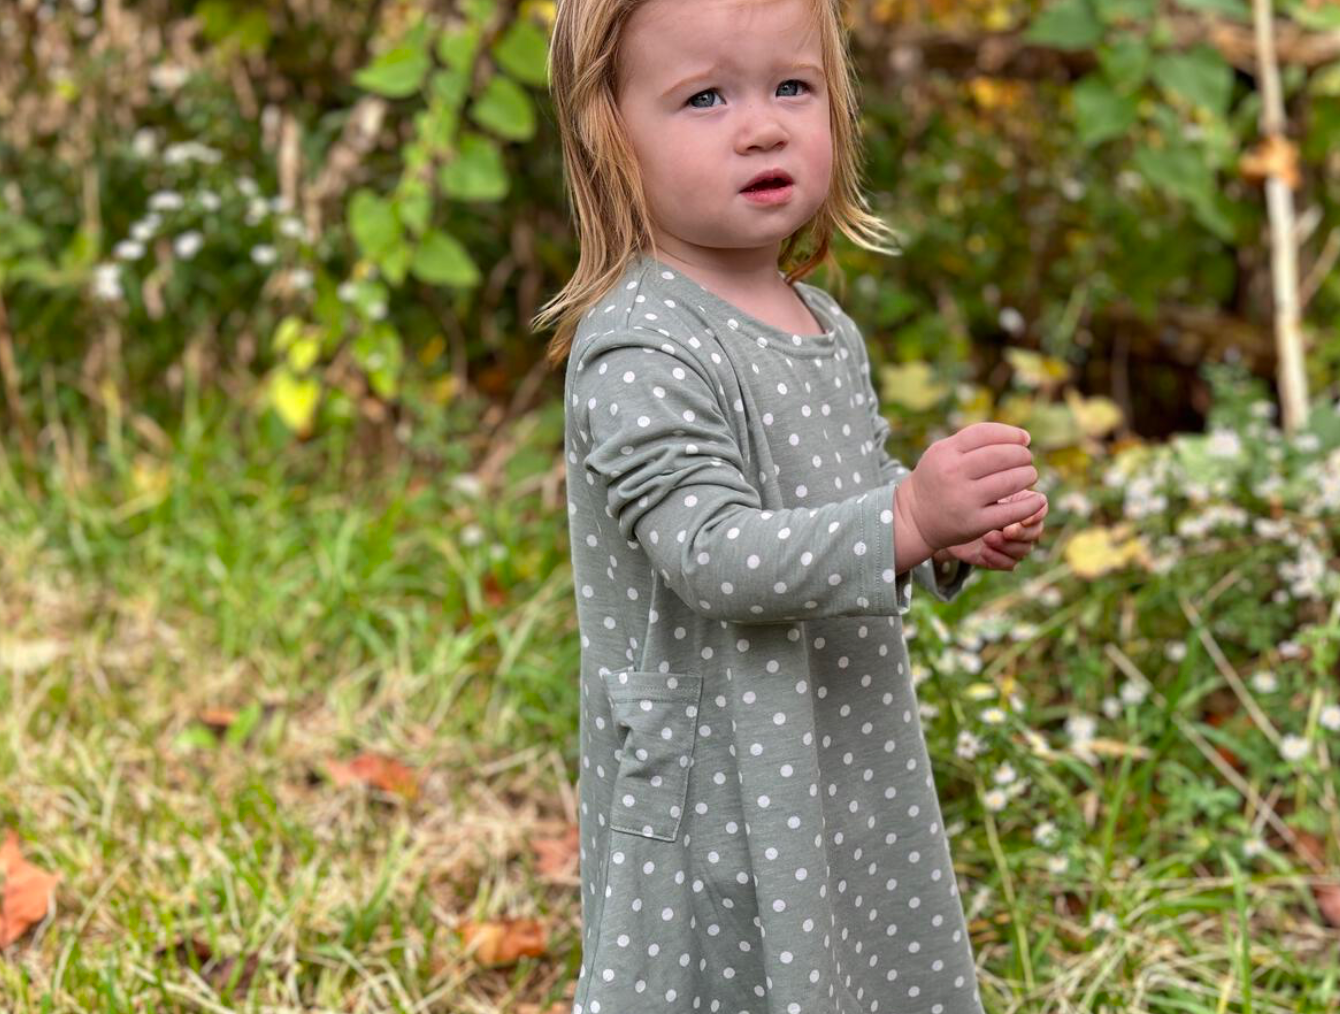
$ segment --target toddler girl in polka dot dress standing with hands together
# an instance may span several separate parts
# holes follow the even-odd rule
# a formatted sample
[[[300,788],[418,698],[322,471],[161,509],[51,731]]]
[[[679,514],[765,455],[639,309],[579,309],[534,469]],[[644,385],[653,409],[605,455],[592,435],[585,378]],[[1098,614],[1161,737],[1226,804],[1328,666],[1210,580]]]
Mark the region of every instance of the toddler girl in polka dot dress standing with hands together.
[[[833,228],[883,250],[838,3],[557,5],[574,1014],[982,1009],[902,618],[1047,505],[1014,426],[891,458],[860,332],[799,281]]]

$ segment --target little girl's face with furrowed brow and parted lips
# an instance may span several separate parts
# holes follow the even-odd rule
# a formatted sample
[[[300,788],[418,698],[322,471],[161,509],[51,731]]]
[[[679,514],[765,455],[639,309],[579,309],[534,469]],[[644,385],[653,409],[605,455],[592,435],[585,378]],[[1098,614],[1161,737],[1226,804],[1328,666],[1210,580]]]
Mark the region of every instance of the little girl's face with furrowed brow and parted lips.
[[[828,196],[832,131],[813,0],[651,0],[619,52],[620,115],[657,241],[773,250]],[[741,190],[787,171],[789,200]],[[671,244],[666,244],[671,245]]]

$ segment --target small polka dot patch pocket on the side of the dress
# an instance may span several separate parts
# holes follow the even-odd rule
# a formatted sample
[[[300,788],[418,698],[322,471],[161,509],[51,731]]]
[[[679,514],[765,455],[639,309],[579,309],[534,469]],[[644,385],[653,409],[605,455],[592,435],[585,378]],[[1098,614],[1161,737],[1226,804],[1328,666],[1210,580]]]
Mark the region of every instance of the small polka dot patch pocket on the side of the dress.
[[[610,711],[623,738],[616,753],[610,826],[674,841],[679,836],[689,768],[698,737],[702,676],[608,672]],[[624,731],[626,730],[626,731]]]

